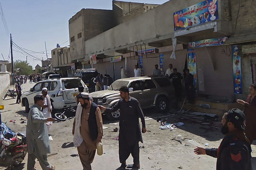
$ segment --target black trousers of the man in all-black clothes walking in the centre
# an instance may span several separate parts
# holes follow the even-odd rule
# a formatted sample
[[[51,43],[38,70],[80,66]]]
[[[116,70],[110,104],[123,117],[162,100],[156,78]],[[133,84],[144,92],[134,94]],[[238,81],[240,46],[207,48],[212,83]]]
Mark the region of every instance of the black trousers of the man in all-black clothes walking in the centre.
[[[139,164],[139,142],[137,140],[134,141],[133,144],[128,145],[125,139],[119,138],[119,161],[120,163],[126,163],[126,160],[129,156],[133,156],[134,165]]]

